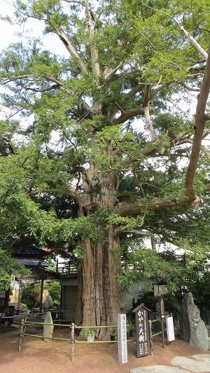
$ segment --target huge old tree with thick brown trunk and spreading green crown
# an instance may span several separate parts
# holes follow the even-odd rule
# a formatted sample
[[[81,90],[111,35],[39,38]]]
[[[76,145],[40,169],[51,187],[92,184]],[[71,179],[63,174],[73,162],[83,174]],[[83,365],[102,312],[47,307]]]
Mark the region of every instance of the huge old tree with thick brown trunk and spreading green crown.
[[[209,190],[208,2],[14,6],[15,22],[42,22],[69,57],[23,34],[1,54],[1,237],[74,244],[76,323],[112,324],[123,310],[120,232],[158,211],[183,216]],[[42,208],[56,196],[77,216]]]

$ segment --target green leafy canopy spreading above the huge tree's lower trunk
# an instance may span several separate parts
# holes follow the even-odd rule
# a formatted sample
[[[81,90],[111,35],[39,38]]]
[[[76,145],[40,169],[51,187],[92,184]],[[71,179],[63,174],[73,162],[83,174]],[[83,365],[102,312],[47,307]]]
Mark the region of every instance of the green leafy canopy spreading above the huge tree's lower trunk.
[[[69,56],[23,37],[1,52],[0,241],[27,239],[81,259],[87,240],[97,249],[108,240],[112,246],[112,225],[116,241],[124,238],[115,249],[123,286],[153,278],[174,293],[190,271],[202,277],[209,258],[208,147],[194,179],[204,205],[186,206],[195,133],[189,110],[205,62],[177,24],[207,50],[209,3],[95,1],[88,22],[84,5],[14,2],[14,22],[42,22],[44,35]],[[127,233],[133,229],[176,244],[186,256],[140,248],[142,240]],[[2,261],[0,283],[8,287],[16,269]]]

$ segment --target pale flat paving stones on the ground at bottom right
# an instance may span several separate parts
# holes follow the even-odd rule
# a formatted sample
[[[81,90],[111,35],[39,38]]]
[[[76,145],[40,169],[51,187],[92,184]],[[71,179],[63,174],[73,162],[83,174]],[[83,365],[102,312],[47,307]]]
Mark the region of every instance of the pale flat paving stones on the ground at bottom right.
[[[192,358],[176,356],[172,360],[176,367],[166,365],[151,365],[150,367],[139,367],[132,369],[130,373],[193,373],[210,372],[210,353],[200,353]],[[183,369],[182,369],[183,368]]]

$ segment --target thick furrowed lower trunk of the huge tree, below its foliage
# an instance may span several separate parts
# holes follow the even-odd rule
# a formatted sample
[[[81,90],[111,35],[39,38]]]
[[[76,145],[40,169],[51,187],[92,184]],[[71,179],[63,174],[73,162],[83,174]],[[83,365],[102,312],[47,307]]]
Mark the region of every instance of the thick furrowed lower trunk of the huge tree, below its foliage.
[[[109,242],[96,245],[87,240],[85,258],[78,266],[78,309],[76,324],[113,325],[123,310],[123,296],[117,276],[121,273],[120,258],[113,255],[118,240],[110,227]],[[101,329],[99,339],[109,331]]]

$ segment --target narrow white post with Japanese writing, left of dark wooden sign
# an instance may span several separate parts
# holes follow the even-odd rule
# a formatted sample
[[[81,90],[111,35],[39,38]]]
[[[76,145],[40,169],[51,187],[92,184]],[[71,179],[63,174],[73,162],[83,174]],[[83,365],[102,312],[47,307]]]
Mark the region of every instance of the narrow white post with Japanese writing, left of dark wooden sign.
[[[118,361],[121,364],[127,363],[127,330],[126,315],[118,315]]]

